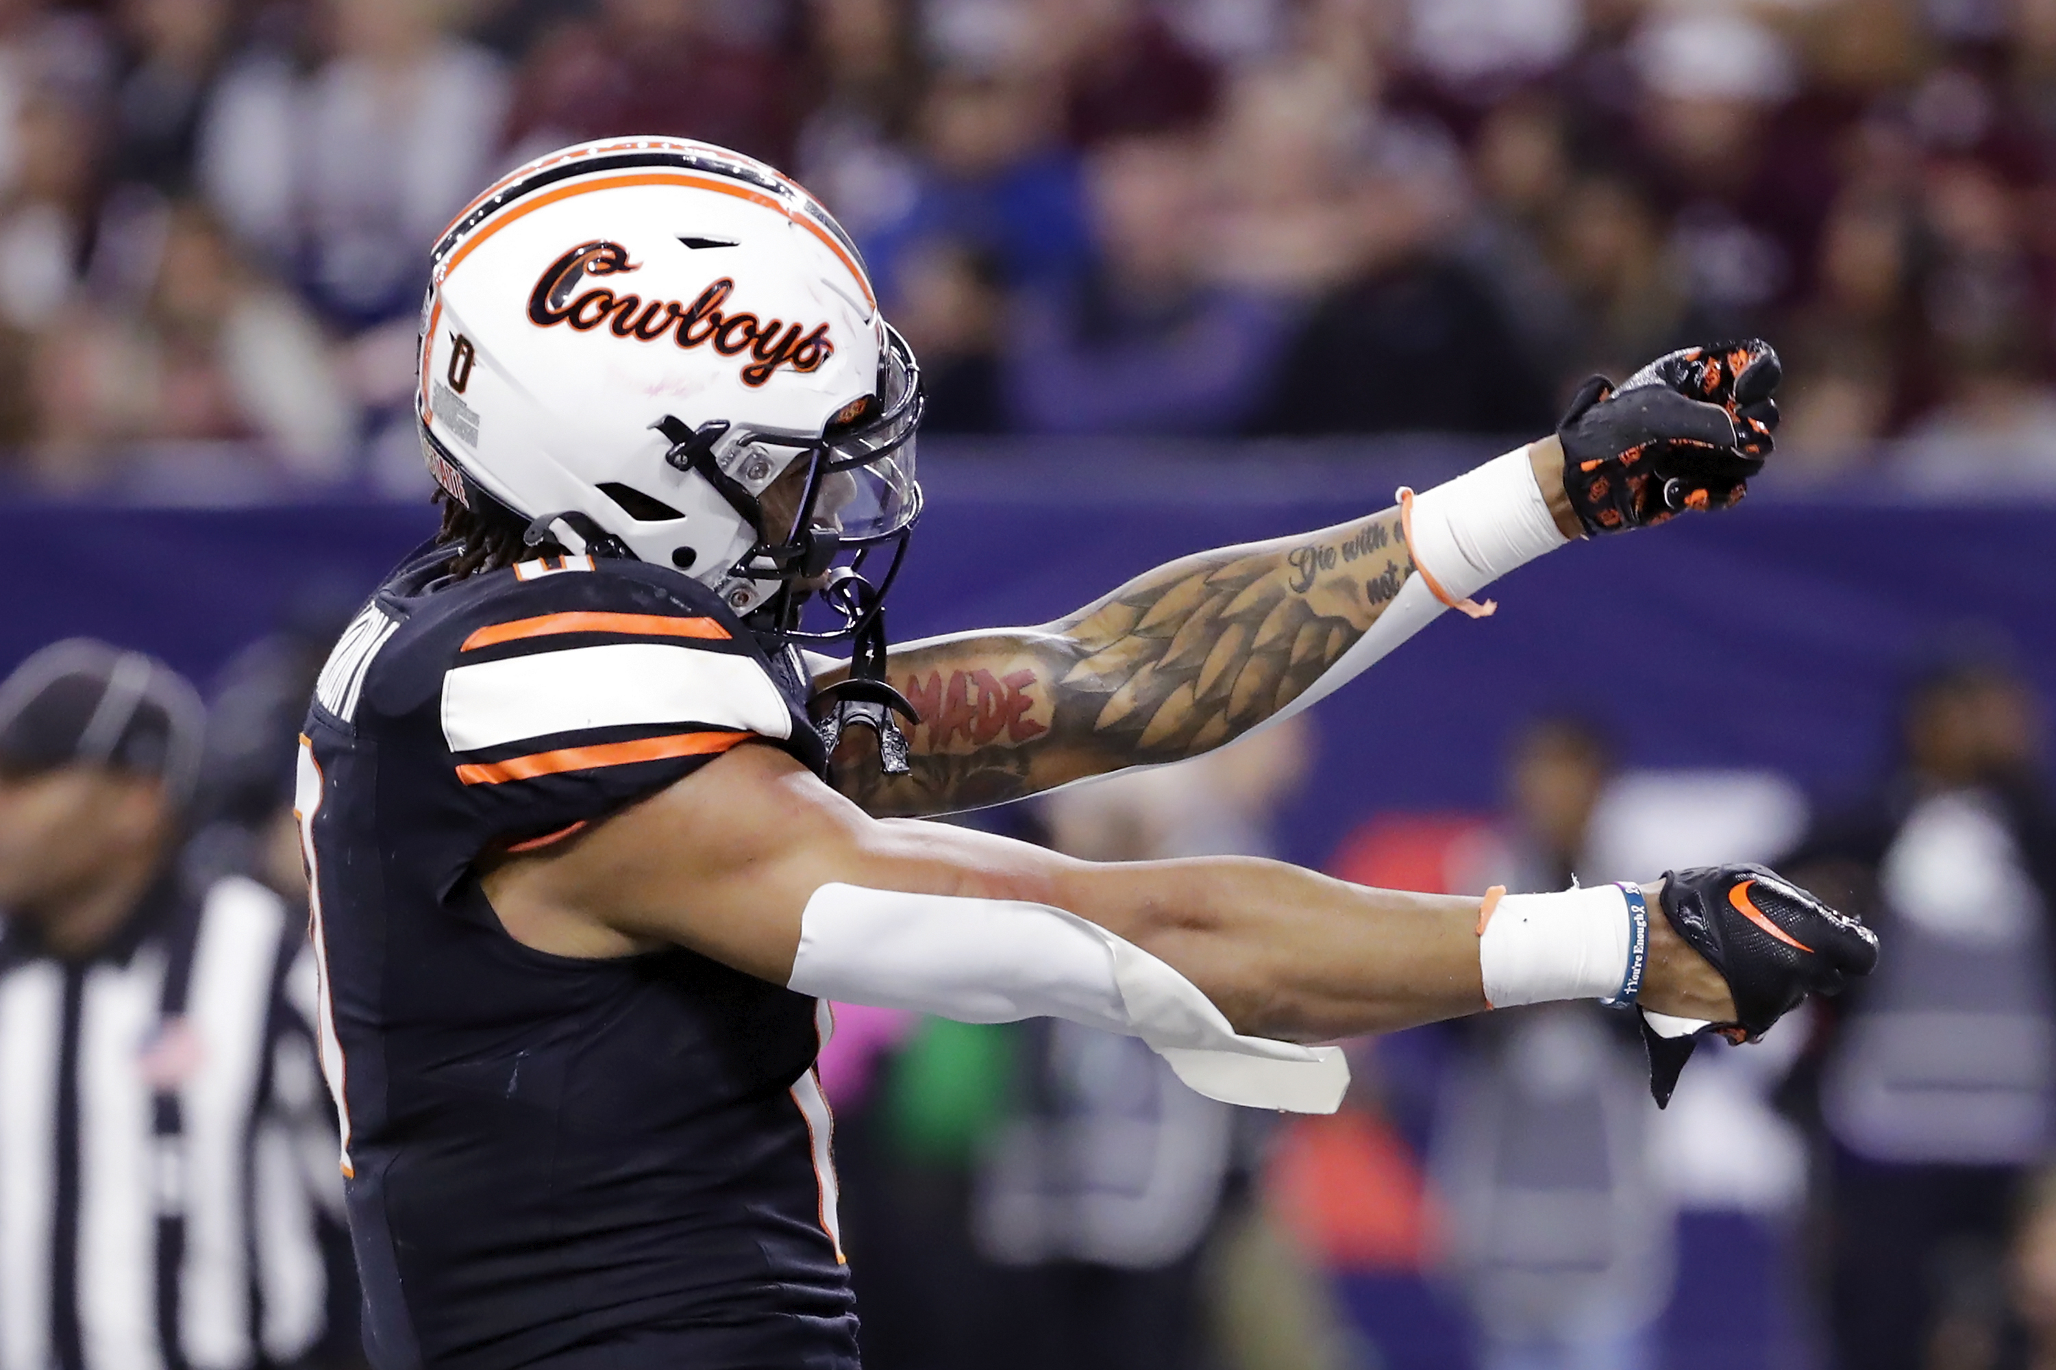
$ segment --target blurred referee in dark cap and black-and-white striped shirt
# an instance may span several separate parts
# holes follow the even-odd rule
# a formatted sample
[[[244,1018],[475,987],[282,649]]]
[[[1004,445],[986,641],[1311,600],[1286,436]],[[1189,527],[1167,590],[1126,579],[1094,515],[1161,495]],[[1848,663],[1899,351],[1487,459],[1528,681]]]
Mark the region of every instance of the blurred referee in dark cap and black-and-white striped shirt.
[[[304,920],[177,839],[206,714],[70,640],[0,683],[0,1370],[308,1364],[333,1121]]]

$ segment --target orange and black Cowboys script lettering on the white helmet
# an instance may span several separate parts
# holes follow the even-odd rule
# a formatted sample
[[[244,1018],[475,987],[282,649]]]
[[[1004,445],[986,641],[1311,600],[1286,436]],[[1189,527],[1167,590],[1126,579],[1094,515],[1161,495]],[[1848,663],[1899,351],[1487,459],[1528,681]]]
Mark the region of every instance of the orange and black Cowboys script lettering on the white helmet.
[[[711,341],[722,356],[746,352],[750,360],[742,364],[742,383],[750,387],[769,381],[779,366],[810,372],[835,356],[827,323],[808,329],[804,323],[759,319],[748,311],[726,313],[724,304],[736,290],[736,282],[728,276],[701,290],[691,304],[644,302],[639,294],[615,294],[607,286],[594,286],[574,298],[588,276],[621,276],[635,269],[639,263],[629,261],[629,251],[619,243],[582,243],[537,278],[528,294],[528,321],[543,329],[567,323],[578,333],[590,333],[604,323],[615,337],[656,341],[670,333],[681,348]]]

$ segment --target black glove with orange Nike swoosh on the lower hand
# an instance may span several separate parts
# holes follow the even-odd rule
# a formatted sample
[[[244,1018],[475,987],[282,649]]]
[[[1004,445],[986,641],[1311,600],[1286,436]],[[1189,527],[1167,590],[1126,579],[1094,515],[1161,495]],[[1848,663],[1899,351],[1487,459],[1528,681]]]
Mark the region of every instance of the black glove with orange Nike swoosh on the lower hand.
[[[1643,1010],[1649,1092],[1659,1109],[1669,1103],[1702,1035],[1756,1041],[1805,996],[1838,994],[1848,975],[1869,975],[1877,965],[1875,932],[1766,866],[1665,870],[1661,903],[1678,936],[1727,981],[1735,1022],[1665,1037]]]

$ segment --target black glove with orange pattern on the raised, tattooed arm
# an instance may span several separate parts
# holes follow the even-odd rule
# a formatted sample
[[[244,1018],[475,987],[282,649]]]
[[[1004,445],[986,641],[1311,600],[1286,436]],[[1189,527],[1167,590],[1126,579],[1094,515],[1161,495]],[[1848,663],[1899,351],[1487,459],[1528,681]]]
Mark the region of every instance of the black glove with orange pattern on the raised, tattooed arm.
[[[1741,500],[1770,455],[1783,374],[1776,350],[1752,337],[1659,356],[1618,391],[1587,378],[1556,426],[1563,488],[1585,535]]]

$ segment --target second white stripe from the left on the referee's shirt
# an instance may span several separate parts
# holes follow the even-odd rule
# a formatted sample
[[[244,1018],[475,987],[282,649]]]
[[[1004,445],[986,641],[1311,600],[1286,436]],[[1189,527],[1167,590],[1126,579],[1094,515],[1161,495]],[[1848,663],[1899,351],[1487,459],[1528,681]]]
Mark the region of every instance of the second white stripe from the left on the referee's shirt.
[[[86,973],[78,1008],[78,1339],[93,1370],[162,1366],[156,1333],[156,1177],[142,1057],[164,957]]]

